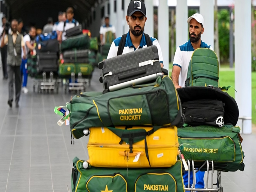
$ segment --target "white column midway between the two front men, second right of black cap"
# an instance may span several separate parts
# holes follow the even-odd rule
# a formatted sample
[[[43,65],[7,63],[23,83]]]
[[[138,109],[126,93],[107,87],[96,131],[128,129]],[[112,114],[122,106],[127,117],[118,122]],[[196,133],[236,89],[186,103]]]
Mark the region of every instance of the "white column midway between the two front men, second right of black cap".
[[[164,68],[169,71],[169,7],[168,0],[159,1],[158,41],[163,53]]]

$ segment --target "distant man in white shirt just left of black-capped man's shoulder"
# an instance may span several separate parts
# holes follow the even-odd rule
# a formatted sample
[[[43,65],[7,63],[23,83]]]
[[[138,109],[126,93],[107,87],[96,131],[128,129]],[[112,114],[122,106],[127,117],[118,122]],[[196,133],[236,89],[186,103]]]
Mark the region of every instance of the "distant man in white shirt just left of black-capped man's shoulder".
[[[109,35],[110,33],[110,35]],[[108,15],[105,16],[105,25],[100,27],[100,43],[112,43],[112,36],[116,39],[116,28],[113,25],[109,24],[109,17]],[[108,39],[110,38],[110,39]]]

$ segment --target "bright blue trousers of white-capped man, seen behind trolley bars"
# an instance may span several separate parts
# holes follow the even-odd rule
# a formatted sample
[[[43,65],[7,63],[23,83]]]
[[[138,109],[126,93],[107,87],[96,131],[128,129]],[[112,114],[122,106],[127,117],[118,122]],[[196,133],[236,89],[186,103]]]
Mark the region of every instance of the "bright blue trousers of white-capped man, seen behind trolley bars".
[[[189,180],[189,185],[190,187],[193,184],[193,172],[190,172],[190,180]],[[183,180],[184,180],[184,185],[186,188],[188,188],[188,171],[185,171],[184,175],[183,175]],[[204,188],[204,172],[197,172],[196,173],[196,184],[195,184],[195,188],[199,188],[202,189]]]

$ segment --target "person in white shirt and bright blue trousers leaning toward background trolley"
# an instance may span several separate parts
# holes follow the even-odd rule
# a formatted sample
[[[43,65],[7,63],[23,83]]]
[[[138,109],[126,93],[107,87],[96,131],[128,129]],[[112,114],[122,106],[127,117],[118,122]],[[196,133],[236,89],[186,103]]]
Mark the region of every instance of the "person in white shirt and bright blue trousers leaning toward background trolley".
[[[28,55],[30,50],[35,49],[35,47],[34,47],[35,37],[36,37],[36,28],[30,27],[29,33],[27,35],[25,35],[23,38],[24,43],[25,43],[25,50],[26,50],[25,55]],[[20,66],[21,77],[23,76],[23,84],[22,84],[21,91],[24,93],[28,93],[28,88],[27,88],[27,82],[28,82],[27,61],[28,61],[28,59],[27,58],[24,59],[23,56],[24,56],[24,52],[22,52],[22,55],[21,55],[22,62],[21,62],[21,66]]]

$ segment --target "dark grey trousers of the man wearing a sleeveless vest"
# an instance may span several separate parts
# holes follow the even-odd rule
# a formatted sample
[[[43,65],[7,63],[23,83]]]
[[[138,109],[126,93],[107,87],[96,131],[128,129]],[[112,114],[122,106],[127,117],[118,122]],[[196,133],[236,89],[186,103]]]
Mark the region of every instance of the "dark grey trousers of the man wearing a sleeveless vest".
[[[20,66],[8,65],[8,77],[9,77],[9,101],[13,101],[14,89],[13,84],[15,82],[15,103],[18,104],[20,100],[21,91],[21,73]]]

